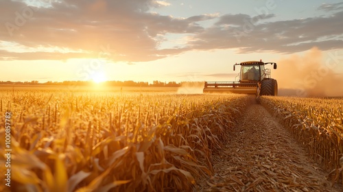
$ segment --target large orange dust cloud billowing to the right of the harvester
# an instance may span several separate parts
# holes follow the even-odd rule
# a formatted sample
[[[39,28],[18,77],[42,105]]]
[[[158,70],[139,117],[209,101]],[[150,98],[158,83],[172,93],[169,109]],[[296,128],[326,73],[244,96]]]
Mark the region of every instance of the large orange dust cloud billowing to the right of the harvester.
[[[279,95],[297,97],[343,96],[343,75],[338,62],[326,58],[313,47],[303,55],[293,54],[277,62],[272,77],[278,81]]]

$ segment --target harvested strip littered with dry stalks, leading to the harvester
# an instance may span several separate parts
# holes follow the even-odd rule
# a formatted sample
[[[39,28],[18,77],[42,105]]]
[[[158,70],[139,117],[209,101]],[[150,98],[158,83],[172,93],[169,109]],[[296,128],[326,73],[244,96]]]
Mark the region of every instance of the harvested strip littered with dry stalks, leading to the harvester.
[[[228,134],[200,191],[342,191],[263,106],[249,106]]]

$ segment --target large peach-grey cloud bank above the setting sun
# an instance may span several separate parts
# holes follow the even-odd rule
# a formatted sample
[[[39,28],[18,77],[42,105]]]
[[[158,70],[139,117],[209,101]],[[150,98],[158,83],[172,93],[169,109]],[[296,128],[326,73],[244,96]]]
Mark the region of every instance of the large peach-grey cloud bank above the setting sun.
[[[48,8],[35,8],[23,1],[0,1],[0,23],[11,26],[11,30],[6,25],[0,26],[2,41],[30,48],[65,47],[84,51],[83,54],[56,52],[56,56],[51,56],[51,53],[41,51],[17,54],[0,47],[3,49],[1,56],[17,60],[90,58],[97,56],[101,47],[110,45],[114,52],[110,55],[111,60],[138,62],[185,51],[157,50],[156,36],[167,32],[196,34],[203,27],[194,19],[176,19],[149,12],[156,3],[166,5],[161,2],[165,1],[64,0],[51,3]],[[211,17],[200,16],[202,21],[206,18]]]

